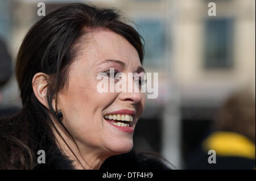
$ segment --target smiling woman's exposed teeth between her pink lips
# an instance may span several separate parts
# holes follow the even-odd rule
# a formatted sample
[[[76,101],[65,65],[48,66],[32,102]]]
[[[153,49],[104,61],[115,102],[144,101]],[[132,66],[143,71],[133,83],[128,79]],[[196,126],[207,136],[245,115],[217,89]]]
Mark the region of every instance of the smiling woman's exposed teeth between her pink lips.
[[[115,120],[110,121],[111,124],[117,125],[118,127],[130,127],[129,123],[122,123],[121,121],[130,121],[133,122],[133,116],[130,115],[105,115],[105,119]]]

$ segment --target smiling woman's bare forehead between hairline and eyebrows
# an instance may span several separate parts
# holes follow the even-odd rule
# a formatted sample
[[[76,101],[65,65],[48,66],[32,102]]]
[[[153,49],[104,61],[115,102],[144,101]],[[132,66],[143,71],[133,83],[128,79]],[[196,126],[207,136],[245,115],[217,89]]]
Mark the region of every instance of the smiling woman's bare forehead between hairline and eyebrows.
[[[120,60],[130,64],[141,64],[137,50],[124,37],[112,31],[93,31],[82,45],[82,60],[98,65],[105,60]]]

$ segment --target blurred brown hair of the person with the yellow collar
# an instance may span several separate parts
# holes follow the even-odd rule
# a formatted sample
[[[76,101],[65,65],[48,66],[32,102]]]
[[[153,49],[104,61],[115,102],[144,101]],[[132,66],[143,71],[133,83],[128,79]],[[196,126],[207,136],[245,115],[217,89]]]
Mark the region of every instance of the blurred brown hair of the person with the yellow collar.
[[[230,96],[222,105],[214,127],[240,133],[255,143],[255,98],[248,90]]]

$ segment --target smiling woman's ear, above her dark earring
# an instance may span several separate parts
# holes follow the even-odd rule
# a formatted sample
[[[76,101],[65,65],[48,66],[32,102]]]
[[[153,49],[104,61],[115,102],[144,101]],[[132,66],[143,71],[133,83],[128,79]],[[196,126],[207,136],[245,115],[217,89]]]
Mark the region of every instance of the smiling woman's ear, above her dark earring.
[[[44,106],[49,108],[47,102],[47,89],[48,89],[48,82],[47,82],[47,74],[42,72],[36,73],[32,79],[32,89],[36,98],[42,103]]]

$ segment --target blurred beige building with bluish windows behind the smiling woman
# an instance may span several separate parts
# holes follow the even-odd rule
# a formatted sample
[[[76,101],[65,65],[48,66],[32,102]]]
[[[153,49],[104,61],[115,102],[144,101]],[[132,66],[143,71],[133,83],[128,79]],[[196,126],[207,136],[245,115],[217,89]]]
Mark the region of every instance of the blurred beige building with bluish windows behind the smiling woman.
[[[28,29],[41,17],[33,0],[0,0],[0,36],[13,57]],[[71,1],[43,1],[46,14]],[[72,1],[85,2],[88,1]],[[215,2],[217,15],[208,15]],[[138,26],[146,42],[144,67],[159,73],[158,99],[148,99],[135,132],[135,148],[160,151],[182,168],[221,103],[248,87],[255,94],[254,0],[94,0],[115,7]],[[20,104],[15,80],[2,104]],[[145,129],[147,128],[147,129]]]

